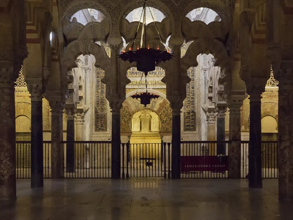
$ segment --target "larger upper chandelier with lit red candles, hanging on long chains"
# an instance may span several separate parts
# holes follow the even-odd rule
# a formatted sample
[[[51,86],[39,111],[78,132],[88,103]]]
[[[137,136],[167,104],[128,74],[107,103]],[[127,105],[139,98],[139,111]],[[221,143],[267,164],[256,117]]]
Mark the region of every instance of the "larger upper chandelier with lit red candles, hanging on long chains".
[[[167,60],[170,60],[173,57],[173,55],[170,53],[169,50],[167,50],[166,47],[165,47],[164,51],[161,51],[159,46],[156,49],[153,49],[153,48],[150,48],[149,46],[146,46],[146,5],[147,5],[147,0],[145,0],[143,12],[141,14],[141,18],[144,17],[144,21],[142,24],[142,32],[143,32],[142,39],[141,39],[141,41],[139,41],[140,45],[142,45],[143,44],[142,41],[143,41],[143,37],[144,37],[145,38],[145,41],[144,41],[145,46],[142,48],[139,48],[139,46],[137,45],[136,50],[134,48],[134,44],[136,43],[137,36],[138,36],[138,30],[139,30],[140,23],[141,23],[141,19],[140,19],[140,22],[137,27],[137,31],[135,33],[135,39],[133,41],[132,47],[130,46],[128,51],[123,50],[121,52],[121,54],[119,55],[119,58],[121,58],[124,61],[129,61],[130,63],[136,62],[137,70],[144,72],[145,75],[147,76],[147,73],[149,71],[155,70],[156,65],[158,65],[162,61],[165,62]],[[148,8],[149,8],[149,6],[148,6]],[[150,11],[150,8],[149,8],[149,11]],[[160,42],[164,45],[164,43],[162,42],[159,30],[157,28],[157,25],[155,23],[155,20],[151,14],[151,11],[150,11],[150,15],[151,15],[152,20],[154,22],[155,28],[158,32]]]

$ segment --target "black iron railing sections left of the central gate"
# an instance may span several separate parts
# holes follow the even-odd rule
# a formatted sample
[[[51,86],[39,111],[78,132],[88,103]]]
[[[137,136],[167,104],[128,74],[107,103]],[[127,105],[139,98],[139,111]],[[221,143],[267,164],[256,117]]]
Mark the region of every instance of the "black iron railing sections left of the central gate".
[[[64,178],[110,178],[111,142],[74,141],[61,143]],[[68,154],[71,151],[73,154]],[[69,169],[69,166],[71,166]],[[43,142],[43,174],[51,178],[51,142]],[[30,141],[16,142],[16,177],[31,177]]]

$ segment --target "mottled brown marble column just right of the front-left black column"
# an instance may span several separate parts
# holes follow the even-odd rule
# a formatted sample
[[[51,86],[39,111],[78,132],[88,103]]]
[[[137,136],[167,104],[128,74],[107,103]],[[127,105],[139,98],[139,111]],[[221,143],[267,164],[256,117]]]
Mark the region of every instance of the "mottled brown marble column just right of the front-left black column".
[[[63,178],[63,102],[50,102],[51,114],[51,172],[52,178]]]

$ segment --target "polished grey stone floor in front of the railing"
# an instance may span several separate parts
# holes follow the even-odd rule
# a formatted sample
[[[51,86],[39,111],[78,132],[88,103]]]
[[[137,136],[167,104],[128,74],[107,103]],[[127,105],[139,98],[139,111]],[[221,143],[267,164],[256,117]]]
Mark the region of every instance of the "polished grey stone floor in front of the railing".
[[[0,220],[291,220],[277,179],[248,189],[246,179],[131,178],[17,181],[17,200],[0,202]]]

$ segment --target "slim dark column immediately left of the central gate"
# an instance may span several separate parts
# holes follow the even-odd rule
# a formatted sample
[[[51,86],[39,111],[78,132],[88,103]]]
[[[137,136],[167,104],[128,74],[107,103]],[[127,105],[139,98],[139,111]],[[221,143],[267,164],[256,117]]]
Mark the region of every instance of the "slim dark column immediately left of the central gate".
[[[121,104],[111,104],[112,109],[112,140],[111,140],[111,173],[113,179],[121,178]]]

